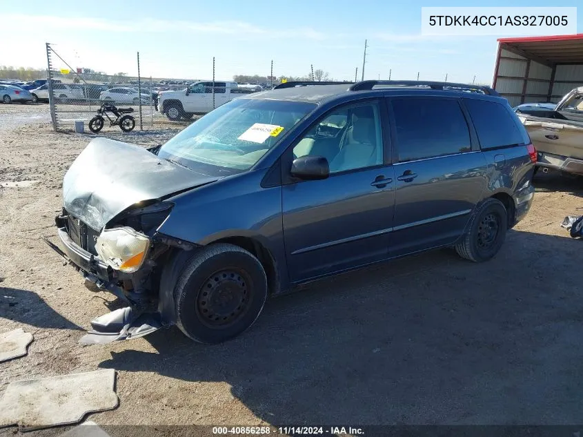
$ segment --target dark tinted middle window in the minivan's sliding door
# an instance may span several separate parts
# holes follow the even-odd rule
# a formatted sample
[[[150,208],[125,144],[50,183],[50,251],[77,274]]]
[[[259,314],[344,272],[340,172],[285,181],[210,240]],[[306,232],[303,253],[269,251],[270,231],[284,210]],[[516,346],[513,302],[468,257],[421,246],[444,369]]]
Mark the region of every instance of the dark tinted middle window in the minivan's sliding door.
[[[399,162],[471,151],[470,132],[455,99],[393,99]]]

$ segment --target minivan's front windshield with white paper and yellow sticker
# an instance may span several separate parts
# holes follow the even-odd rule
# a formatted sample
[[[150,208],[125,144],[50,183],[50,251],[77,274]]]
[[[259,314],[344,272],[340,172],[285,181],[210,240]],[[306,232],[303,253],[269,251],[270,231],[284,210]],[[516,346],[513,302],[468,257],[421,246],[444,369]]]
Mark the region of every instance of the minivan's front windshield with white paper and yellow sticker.
[[[315,107],[297,101],[235,99],[182,130],[158,155],[202,173],[239,173]]]

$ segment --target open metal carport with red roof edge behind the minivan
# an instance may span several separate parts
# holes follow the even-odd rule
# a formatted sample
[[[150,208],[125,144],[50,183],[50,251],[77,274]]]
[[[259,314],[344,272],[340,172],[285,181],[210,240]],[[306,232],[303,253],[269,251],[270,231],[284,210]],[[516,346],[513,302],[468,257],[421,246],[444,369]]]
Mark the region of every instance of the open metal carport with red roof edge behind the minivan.
[[[557,102],[583,86],[583,33],[498,39],[493,88],[511,106]]]

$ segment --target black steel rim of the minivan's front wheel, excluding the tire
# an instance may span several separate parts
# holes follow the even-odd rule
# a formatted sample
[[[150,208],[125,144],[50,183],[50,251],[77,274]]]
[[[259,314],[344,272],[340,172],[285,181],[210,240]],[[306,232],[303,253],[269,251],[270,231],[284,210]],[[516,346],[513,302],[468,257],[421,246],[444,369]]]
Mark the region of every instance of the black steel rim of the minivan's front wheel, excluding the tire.
[[[237,322],[248,309],[246,273],[235,267],[217,271],[205,281],[197,297],[197,315],[207,327]]]

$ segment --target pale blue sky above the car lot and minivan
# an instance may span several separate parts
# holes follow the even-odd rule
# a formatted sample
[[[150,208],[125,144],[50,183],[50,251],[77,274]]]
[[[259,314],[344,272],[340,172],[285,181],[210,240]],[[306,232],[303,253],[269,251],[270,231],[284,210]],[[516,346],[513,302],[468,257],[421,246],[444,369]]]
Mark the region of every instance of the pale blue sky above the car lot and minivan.
[[[553,4],[554,3],[554,4]],[[310,64],[334,79],[472,81],[490,83],[497,37],[424,37],[422,6],[577,6],[583,3],[488,0],[399,1],[33,1],[0,6],[0,65],[46,66],[45,42],[70,66],[144,77],[212,77],[237,73],[306,75]],[[5,25],[8,23],[8,25]],[[504,35],[500,35],[502,37]],[[6,43],[12,41],[13,43]],[[55,67],[65,67],[58,59]]]

